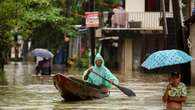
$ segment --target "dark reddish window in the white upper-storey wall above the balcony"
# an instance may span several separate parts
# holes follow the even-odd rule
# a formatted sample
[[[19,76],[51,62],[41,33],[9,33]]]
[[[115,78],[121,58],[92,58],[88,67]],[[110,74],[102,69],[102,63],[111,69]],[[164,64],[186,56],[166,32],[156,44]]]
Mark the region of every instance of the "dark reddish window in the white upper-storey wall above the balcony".
[[[145,11],[159,12],[161,10],[161,0],[145,0]],[[169,0],[165,0],[165,10],[169,11]]]

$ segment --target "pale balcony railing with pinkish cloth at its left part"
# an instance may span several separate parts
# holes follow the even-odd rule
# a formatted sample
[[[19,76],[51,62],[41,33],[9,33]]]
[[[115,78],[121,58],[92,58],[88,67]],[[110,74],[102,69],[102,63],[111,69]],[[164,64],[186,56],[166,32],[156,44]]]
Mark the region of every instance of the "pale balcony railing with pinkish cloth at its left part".
[[[166,17],[173,17],[173,13],[166,13],[165,15]],[[102,27],[162,30],[162,18],[160,12],[123,12],[114,14],[112,17],[109,17],[108,12],[104,12]]]

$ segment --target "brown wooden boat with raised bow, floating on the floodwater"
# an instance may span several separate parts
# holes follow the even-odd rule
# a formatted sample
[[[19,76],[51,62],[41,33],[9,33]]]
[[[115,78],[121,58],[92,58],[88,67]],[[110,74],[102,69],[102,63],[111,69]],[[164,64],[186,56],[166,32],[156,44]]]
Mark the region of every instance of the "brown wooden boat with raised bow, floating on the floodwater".
[[[109,95],[105,88],[59,73],[53,76],[53,82],[66,101],[99,99]]]

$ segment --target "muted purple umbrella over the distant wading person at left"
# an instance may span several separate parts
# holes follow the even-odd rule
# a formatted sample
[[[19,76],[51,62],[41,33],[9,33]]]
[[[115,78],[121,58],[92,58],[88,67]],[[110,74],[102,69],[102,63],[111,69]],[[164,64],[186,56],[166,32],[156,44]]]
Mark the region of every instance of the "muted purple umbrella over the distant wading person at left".
[[[42,58],[52,58],[54,55],[47,49],[37,48],[32,52],[33,56],[42,57]]]

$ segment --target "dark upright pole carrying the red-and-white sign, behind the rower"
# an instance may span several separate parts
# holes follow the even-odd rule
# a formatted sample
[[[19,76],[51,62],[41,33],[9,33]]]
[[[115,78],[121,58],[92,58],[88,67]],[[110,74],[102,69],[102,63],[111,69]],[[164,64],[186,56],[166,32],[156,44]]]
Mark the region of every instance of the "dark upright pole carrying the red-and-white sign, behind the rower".
[[[93,12],[95,10],[95,0],[89,0],[89,11]],[[95,27],[90,27],[90,44],[91,44],[91,65],[94,65],[95,59]]]

